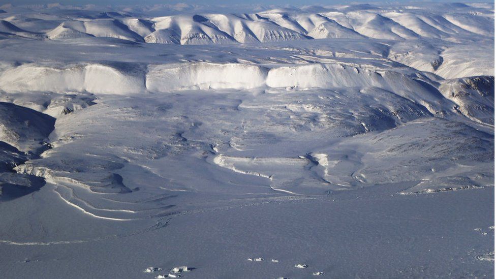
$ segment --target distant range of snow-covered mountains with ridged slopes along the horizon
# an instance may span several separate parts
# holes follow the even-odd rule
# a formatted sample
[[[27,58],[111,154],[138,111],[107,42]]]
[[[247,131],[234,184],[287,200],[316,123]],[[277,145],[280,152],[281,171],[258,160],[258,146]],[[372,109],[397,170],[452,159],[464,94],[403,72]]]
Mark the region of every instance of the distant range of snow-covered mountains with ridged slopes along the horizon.
[[[493,14],[490,10],[449,4],[423,7],[365,6],[313,7],[312,9],[271,9],[249,13],[185,13],[150,17],[146,13],[84,13],[63,9],[49,17],[26,13],[4,13],[3,33],[28,34],[17,27],[44,31],[40,39],[68,39],[88,36],[119,38],[166,44],[226,44],[278,42],[323,38],[361,38],[411,40],[417,38],[447,41],[473,40],[474,34],[492,37]],[[52,8],[53,9],[53,8]],[[41,9],[41,12],[52,12]],[[40,9],[38,9],[40,10]],[[311,11],[310,11],[311,10]],[[44,13],[45,14],[45,13]],[[46,20],[45,20],[46,18]],[[29,22],[49,21],[40,29]],[[42,32],[43,33],[43,32]]]

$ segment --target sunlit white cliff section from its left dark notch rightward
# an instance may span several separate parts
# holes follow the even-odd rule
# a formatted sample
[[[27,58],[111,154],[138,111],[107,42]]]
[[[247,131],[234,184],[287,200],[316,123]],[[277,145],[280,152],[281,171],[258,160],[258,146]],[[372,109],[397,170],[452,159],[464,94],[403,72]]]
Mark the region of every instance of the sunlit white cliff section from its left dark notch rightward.
[[[415,78],[395,72],[373,71],[340,64],[259,66],[246,64],[182,63],[152,65],[146,75],[147,89],[168,92],[187,89],[252,89],[257,87],[309,88],[380,87],[402,91],[419,87]],[[402,81],[402,82],[401,82]],[[408,85],[406,85],[407,83]],[[413,83],[413,84],[412,84]],[[416,88],[416,90],[418,90]],[[428,91],[428,89],[426,90]],[[436,96],[436,89],[426,93]],[[413,93],[412,93],[413,95]],[[439,94],[437,94],[439,95]],[[405,98],[415,96],[404,95]]]

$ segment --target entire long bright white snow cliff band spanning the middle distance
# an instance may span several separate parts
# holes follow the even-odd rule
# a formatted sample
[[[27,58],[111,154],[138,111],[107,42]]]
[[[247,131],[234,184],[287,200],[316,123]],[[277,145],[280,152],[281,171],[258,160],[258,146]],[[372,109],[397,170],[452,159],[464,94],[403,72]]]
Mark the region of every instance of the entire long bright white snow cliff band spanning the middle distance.
[[[117,66],[118,67],[118,66]],[[129,71],[126,68],[135,67]],[[239,63],[177,63],[133,65],[123,69],[100,64],[49,67],[25,64],[0,74],[0,86],[7,92],[21,91],[87,91],[97,95],[140,94],[191,89],[253,89],[378,87],[415,100],[433,113],[442,96],[420,75],[384,71],[376,67],[361,68],[346,64],[256,65]],[[370,68],[370,69],[367,69]],[[145,80],[145,81],[144,81]],[[145,88],[146,87],[146,88]],[[420,91],[419,91],[420,90]],[[439,109],[439,108],[438,108]]]

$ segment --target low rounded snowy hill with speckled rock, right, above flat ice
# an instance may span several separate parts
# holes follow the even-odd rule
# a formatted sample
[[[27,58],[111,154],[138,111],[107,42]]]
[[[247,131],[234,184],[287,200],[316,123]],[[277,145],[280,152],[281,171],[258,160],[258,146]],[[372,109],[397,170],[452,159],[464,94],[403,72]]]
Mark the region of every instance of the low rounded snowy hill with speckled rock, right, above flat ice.
[[[325,173],[329,179],[344,181],[340,183],[344,186],[418,181],[401,192],[409,194],[493,186],[493,146],[490,134],[461,123],[422,118],[318,152],[326,160],[338,159],[324,164]],[[344,168],[349,176],[329,175]]]

